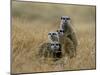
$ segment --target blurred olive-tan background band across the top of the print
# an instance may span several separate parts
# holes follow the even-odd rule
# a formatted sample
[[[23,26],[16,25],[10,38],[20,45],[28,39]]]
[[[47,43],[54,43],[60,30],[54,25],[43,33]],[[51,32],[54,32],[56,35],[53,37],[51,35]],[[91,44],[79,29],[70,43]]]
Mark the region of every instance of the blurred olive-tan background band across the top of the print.
[[[13,17],[50,22],[59,21],[62,15],[70,16],[74,22],[93,22],[95,21],[95,6],[18,1],[12,3]]]

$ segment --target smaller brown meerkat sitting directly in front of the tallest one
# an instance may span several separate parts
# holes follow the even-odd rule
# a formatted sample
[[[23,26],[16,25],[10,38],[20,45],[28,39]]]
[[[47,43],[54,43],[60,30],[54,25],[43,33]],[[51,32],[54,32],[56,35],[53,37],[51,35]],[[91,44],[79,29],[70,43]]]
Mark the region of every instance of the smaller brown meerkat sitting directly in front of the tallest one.
[[[57,30],[58,35],[59,35],[59,42],[62,46],[62,54],[63,56],[66,56],[66,54],[72,58],[75,56],[75,46],[73,44],[73,42],[71,41],[70,38],[66,37],[66,35],[64,34],[64,30]]]

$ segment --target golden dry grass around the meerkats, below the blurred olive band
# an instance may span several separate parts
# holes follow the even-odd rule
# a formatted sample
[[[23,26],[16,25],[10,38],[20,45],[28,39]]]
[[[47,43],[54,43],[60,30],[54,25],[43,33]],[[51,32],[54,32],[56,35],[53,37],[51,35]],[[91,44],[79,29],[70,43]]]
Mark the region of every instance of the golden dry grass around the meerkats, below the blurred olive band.
[[[64,9],[65,10],[65,9]],[[63,15],[63,14],[62,14]],[[59,28],[60,21],[45,22],[12,17],[12,72],[46,72],[95,68],[95,21],[74,22],[78,38],[77,56],[63,63],[42,62],[36,56],[41,43],[48,41],[47,34]]]

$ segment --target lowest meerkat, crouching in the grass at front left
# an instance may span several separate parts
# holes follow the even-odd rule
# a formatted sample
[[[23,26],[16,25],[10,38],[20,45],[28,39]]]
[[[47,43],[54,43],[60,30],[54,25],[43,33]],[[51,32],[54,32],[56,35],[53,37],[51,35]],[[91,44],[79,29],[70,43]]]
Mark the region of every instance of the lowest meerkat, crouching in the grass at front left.
[[[40,57],[61,58],[61,45],[58,42],[43,43],[39,48]]]

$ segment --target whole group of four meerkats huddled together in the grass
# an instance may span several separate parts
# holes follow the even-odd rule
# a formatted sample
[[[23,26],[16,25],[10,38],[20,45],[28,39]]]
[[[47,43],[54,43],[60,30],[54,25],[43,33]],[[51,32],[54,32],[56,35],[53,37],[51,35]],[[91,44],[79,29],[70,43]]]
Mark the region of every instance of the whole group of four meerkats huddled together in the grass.
[[[70,17],[62,16],[60,29],[48,33],[49,43],[40,46],[40,55],[61,58],[66,54],[72,58],[76,55],[77,38],[70,23]]]

